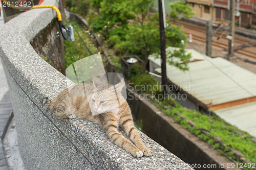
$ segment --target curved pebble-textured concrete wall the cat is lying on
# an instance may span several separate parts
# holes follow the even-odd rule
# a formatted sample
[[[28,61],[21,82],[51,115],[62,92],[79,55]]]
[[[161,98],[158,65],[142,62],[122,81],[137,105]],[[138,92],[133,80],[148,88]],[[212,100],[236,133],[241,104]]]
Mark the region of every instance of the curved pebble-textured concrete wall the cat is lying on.
[[[58,5],[55,0],[43,4]],[[42,108],[44,96],[54,99],[72,84],[30,43],[55,16],[52,9],[33,9],[0,27],[0,56],[11,91],[20,155],[27,169],[191,169],[143,133],[153,155],[136,159],[113,144],[99,125],[59,118]]]

